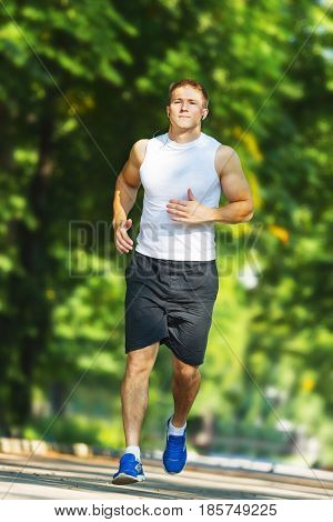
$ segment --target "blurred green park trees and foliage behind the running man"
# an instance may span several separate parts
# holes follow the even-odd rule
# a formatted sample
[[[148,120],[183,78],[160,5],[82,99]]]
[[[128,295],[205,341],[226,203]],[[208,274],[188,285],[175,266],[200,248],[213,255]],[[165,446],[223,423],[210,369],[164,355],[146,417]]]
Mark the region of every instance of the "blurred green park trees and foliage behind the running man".
[[[325,1],[0,1],[0,435],[123,448],[114,182],[193,78],[255,215],[215,227],[190,448],[333,468],[332,27]],[[143,450],[163,449],[170,383],[162,345]]]

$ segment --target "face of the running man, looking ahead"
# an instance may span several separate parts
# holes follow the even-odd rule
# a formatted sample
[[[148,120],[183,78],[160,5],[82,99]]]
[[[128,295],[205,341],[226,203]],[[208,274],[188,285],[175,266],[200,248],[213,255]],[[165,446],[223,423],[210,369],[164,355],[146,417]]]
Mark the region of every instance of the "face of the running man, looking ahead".
[[[172,92],[170,106],[167,108],[170,121],[178,127],[191,129],[201,123],[208,114],[201,92],[193,87],[179,87]]]

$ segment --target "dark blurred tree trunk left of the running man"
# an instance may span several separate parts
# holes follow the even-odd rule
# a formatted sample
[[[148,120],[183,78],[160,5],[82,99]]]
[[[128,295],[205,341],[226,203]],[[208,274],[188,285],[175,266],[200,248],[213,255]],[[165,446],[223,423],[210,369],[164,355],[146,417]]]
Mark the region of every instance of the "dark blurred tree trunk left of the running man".
[[[49,211],[48,199],[52,163],[53,110],[48,102],[41,116],[39,163],[31,180],[28,203],[37,220],[31,230],[21,221],[17,225],[21,273],[11,281],[11,299],[16,310],[17,372],[11,380],[10,409],[12,423],[20,429],[31,412],[31,390],[34,370],[47,349],[50,334],[50,303],[47,289],[50,283]]]

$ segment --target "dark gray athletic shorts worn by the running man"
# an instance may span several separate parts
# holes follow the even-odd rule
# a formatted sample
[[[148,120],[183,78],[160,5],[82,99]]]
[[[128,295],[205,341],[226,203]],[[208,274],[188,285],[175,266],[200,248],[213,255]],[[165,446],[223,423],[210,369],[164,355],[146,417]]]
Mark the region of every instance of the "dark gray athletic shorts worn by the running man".
[[[186,364],[202,364],[219,291],[215,260],[173,261],[134,251],[125,281],[125,353],[160,341]]]

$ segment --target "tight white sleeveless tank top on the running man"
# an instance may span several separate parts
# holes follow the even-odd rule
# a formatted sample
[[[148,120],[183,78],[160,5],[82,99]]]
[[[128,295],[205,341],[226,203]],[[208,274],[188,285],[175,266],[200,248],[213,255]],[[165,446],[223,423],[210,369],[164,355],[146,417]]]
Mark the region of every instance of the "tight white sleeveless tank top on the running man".
[[[170,199],[194,198],[208,207],[219,207],[221,183],[214,167],[220,142],[201,132],[188,143],[165,134],[148,141],[140,178],[144,189],[143,210],[135,250],[151,258],[178,261],[215,259],[214,223],[172,221],[167,212]]]

